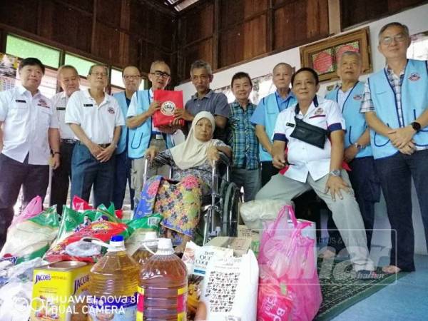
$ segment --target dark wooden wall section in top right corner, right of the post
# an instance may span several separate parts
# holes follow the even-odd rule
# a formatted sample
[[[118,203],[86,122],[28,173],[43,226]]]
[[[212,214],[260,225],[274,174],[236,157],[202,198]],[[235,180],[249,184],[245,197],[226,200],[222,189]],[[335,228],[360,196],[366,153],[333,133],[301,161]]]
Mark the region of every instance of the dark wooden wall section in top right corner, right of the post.
[[[427,0],[340,0],[342,28],[397,14]]]

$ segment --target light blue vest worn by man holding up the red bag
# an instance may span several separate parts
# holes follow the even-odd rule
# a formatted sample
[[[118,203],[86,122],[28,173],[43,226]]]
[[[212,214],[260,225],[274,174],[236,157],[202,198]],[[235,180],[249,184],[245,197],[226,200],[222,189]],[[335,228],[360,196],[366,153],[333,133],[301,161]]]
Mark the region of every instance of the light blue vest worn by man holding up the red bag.
[[[148,111],[148,107],[151,104],[150,91],[137,91],[134,93],[137,101],[137,113],[140,115],[145,111]],[[128,157],[129,158],[143,158],[148,145],[150,144],[151,138],[151,124],[152,118],[149,117],[144,123],[137,128],[129,129],[129,140],[128,140]],[[166,148],[173,147],[173,141],[171,135],[166,136]],[[164,137],[165,137],[164,136]]]

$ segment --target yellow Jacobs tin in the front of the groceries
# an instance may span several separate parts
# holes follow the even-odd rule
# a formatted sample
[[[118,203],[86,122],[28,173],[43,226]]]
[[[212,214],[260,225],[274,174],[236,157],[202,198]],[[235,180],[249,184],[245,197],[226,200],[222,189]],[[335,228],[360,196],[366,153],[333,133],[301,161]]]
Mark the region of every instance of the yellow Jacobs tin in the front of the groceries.
[[[84,262],[63,261],[36,268],[30,320],[86,320],[91,266]]]

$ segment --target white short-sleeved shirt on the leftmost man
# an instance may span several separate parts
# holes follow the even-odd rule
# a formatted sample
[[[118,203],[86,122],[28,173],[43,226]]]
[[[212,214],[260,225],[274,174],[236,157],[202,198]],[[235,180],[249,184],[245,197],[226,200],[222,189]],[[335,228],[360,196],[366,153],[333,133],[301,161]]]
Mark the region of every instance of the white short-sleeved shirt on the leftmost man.
[[[3,151],[9,158],[29,164],[48,165],[49,128],[58,128],[51,101],[40,91],[36,95],[23,86],[0,93],[0,121],[3,121]]]

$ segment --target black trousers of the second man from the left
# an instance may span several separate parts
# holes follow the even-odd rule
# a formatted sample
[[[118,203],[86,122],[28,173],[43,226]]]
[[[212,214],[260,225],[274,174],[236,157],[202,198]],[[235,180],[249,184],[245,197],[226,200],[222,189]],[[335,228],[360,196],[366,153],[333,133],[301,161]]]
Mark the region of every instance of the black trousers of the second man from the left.
[[[68,185],[71,182],[71,156],[74,143],[61,143],[61,165],[53,170],[51,181],[51,200],[49,206],[57,205],[56,211],[62,213],[63,205],[67,203]]]

